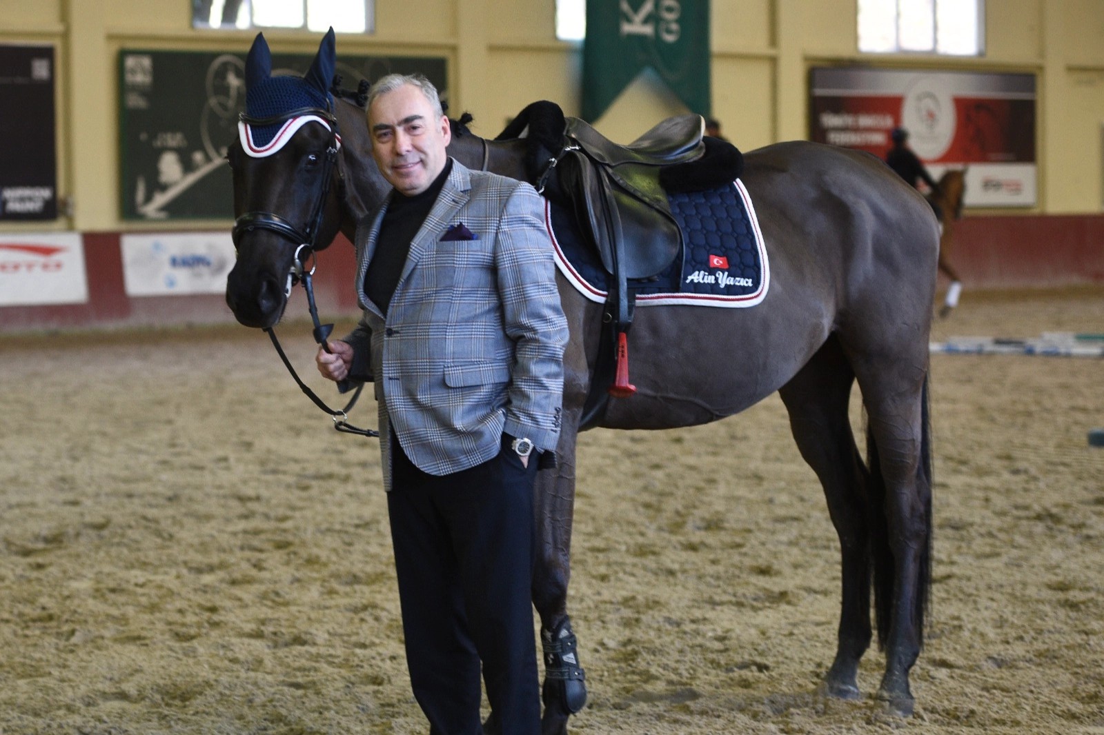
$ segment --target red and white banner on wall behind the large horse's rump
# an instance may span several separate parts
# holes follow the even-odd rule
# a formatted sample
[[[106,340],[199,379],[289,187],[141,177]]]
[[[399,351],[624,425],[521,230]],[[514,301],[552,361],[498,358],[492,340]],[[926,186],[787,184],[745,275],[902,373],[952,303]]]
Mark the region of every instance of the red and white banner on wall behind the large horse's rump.
[[[1033,74],[811,70],[809,139],[885,158],[890,131],[938,179],[966,170],[967,206],[1034,206]]]

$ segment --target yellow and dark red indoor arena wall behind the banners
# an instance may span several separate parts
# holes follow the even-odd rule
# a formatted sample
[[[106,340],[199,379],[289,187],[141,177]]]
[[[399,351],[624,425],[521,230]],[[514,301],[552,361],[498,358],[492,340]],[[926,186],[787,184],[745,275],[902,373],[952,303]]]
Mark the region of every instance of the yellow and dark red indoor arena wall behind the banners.
[[[339,34],[339,51],[444,57],[454,109],[476,116],[477,134],[496,135],[534,99],[552,99],[569,115],[578,113],[581,45],[555,39],[555,0],[376,0],[375,6],[374,33]],[[117,64],[124,49],[244,52],[255,32],[194,30],[185,0],[0,0],[0,43],[55,49],[61,198],[57,220],[4,223],[0,234],[81,233],[88,280],[85,305],[0,307],[0,330],[230,321],[217,295],[126,296],[123,234],[226,232],[231,223],[121,216]],[[266,30],[265,35],[279,52],[314,53],[318,44],[310,33]],[[814,66],[1033,74],[1037,204],[1016,211],[968,210],[958,224],[955,260],[967,287],[1100,283],[1101,38],[1104,0],[1001,0],[986,3],[981,56],[860,54],[854,0],[713,1],[712,111],[725,135],[750,150],[808,134],[808,74]],[[627,141],[682,111],[675,95],[645,74],[596,127]],[[348,248],[332,249],[344,249],[336,259],[351,260]],[[320,270],[323,311],[355,310],[346,276],[339,275],[350,270],[351,263],[343,260]]]

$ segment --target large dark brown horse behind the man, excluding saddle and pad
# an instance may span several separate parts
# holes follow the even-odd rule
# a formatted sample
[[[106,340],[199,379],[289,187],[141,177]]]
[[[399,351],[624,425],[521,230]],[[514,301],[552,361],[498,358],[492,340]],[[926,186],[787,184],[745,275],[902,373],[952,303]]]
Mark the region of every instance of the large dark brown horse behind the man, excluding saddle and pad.
[[[254,52],[257,43],[263,39]],[[332,70],[326,65],[332,53],[332,40],[323,41],[305,84],[325,89],[320,79]],[[269,73],[247,66],[252,83]],[[352,238],[358,220],[389,190],[370,156],[364,110],[338,98],[330,110],[315,111],[340,127],[331,168],[323,159],[335,137],[318,122],[301,126],[265,158],[247,156],[237,142],[229,150],[238,223],[226,301],[247,327],[279,321],[287,275],[297,249],[309,242],[304,236],[319,248],[339,228]],[[456,160],[524,177],[524,140],[486,140],[456,124],[454,130],[449,153]],[[742,309],[637,309],[629,344],[638,390],[613,398],[599,425],[703,424],[778,391],[802,456],[824,486],[841,547],[838,649],[824,691],[860,697],[858,668],[872,637],[873,589],[878,640],[885,651],[878,695],[892,712],[907,715],[914,703],[909,672],[922,647],[931,585],[927,376],[937,223],[916,191],[866,153],[786,142],[752,151],[744,163],[742,181],[771,258],[765,300]],[[575,443],[603,315],[601,303],[562,277],[560,291],[571,341],[559,467],[542,470],[537,488],[533,603],[545,636],[564,630],[567,621]],[[856,382],[867,414],[866,461],[848,418]],[[545,673],[544,733],[565,733],[569,715],[582,704],[581,682],[565,679]]]

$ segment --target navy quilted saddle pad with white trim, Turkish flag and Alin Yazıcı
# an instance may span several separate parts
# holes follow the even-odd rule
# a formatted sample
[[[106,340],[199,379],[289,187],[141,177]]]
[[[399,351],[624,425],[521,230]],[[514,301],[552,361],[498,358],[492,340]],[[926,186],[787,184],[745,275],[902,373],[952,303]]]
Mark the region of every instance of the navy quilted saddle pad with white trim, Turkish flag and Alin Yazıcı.
[[[737,179],[704,192],[669,194],[683,251],[656,278],[629,281],[637,306],[755,306],[766,297],[769,267],[747,190]],[[560,273],[586,298],[604,302],[608,278],[571,211],[545,202],[545,225]]]

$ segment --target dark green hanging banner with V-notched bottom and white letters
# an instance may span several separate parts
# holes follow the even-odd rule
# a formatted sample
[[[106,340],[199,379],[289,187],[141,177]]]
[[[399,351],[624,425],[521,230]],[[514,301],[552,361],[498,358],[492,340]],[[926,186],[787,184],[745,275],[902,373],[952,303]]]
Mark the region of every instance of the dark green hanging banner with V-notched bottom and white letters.
[[[709,115],[709,0],[587,0],[583,119],[596,120],[646,68]]]

